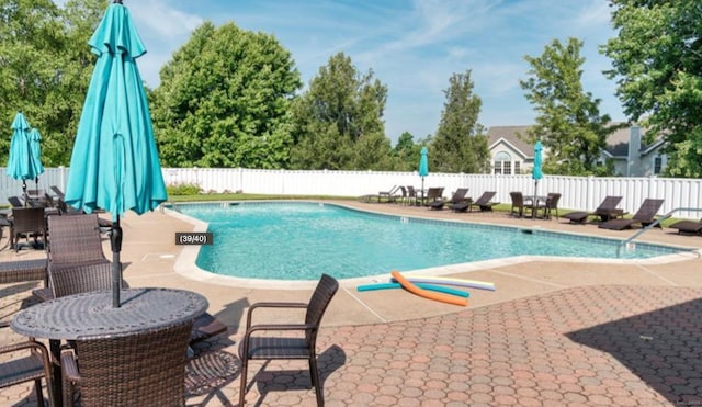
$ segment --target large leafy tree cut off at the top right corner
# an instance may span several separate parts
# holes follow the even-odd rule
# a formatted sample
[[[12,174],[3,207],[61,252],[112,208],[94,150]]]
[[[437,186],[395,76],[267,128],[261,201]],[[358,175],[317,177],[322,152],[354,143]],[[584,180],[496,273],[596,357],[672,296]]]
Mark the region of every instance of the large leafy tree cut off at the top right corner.
[[[702,5],[699,1],[611,0],[619,34],[601,47],[612,59],[624,113],[663,135],[666,172],[702,177]]]

